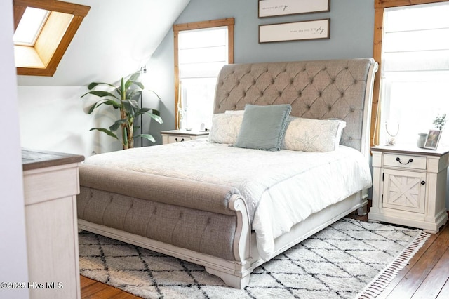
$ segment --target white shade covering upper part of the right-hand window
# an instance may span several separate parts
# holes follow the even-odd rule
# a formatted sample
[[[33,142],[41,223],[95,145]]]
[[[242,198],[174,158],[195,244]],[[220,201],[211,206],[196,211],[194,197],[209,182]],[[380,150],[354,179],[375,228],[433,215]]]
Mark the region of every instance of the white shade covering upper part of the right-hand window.
[[[448,16],[448,4],[385,9],[382,71],[449,70]]]

